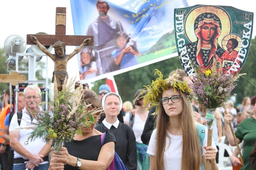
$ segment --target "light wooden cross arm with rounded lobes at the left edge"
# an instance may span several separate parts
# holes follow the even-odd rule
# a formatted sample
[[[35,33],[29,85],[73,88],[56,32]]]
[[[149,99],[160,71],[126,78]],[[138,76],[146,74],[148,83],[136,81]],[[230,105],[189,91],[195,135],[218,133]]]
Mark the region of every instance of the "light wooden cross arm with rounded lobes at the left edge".
[[[25,80],[25,76],[19,75],[16,71],[11,74],[0,74],[0,83],[11,83],[13,86],[16,86],[18,82],[24,83]]]

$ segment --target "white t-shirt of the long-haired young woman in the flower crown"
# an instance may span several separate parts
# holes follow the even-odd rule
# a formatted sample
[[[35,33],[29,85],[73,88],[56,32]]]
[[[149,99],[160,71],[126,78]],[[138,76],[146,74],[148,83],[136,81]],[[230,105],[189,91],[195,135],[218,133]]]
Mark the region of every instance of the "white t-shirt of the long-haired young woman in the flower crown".
[[[207,146],[207,135],[208,130],[205,128],[205,137],[203,140],[203,146]],[[172,135],[167,131],[167,135],[171,138],[171,142],[169,137],[166,137],[166,146],[165,146],[165,153],[163,155],[163,164],[164,169],[175,169],[179,170],[181,169],[181,163],[182,163],[182,135],[176,136]],[[170,144],[170,146],[169,146]],[[205,155],[205,149],[202,146],[202,156]],[[147,153],[150,155],[155,156],[155,147],[156,147],[156,129],[153,131],[150,142],[147,148]],[[215,143],[212,139],[212,147],[214,147],[216,150]]]

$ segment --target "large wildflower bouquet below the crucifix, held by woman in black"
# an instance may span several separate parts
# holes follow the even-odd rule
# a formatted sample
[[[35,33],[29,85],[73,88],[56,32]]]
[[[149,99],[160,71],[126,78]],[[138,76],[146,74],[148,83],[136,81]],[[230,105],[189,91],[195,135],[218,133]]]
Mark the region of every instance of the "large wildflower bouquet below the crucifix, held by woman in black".
[[[56,82],[56,81],[54,81]],[[43,138],[47,143],[54,140],[53,150],[57,152],[63,146],[64,141],[71,141],[75,133],[82,134],[81,129],[89,127],[88,123],[95,121],[93,114],[101,112],[101,109],[93,109],[87,112],[87,105],[82,101],[80,88],[74,89],[74,80],[71,80],[66,87],[65,80],[61,91],[57,90],[57,84],[54,84],[54,106],[47,103],[49,108],[39,110],[38,113],[32,113],[32,117],[37,120],[33,125],[33,131],[29,134],[32,141],[35,138]],[[45,102],[40,103],[45,106]]]

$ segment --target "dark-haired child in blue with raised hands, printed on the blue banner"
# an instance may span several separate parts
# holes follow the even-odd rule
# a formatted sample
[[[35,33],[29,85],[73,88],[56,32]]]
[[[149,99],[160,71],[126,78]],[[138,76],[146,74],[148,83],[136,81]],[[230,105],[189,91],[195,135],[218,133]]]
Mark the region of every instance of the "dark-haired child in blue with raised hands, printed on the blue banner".
[[[117,32],[114,38],[114,41],[116,42],[116,49],[112,51],[111,56],[114,57],[114,62],[116,65],[120,64],[120,69],[139,64],[134,56],[140,55],[139,51],[137,50],[136,41],[131,41],[133,42],[133,45],[131,46],[128,44],[129,40],[130,37],[124,31]]]

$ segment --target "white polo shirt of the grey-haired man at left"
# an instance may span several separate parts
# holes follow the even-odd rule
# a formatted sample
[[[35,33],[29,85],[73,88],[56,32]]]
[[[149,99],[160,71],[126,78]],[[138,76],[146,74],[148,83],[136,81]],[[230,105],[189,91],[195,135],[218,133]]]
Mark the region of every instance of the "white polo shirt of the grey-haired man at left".
[[[11,131],[19,131],[19,143],[30,153],[32,154],[38,154],[42,148],[44,147],[44,145],[46,144],[45,142],[43,142],[42,138],[36,138],[33,141],[28,141],[28,145],[25,145],[24,142],[27,141],[29,133],[32,132],[32,129],[18,129],[18,128],[25,128],[28,127],[28,121],[31,121],[30,116],[27,113],[26,107],[22,110],[22,119],[20,121],[20,126],[18,124],[18,118],[17,118],[17,114],[14,114],[10,123],[10,127],[9,127],[9,132]],[[35,119],[33,119],[32,122],[36,122]],[[22,156],[20,154],[18,154],[17,152],[14,151],[14,158],[20,158],[22,157],[23,159],[28,159],[25,156]],[[45,161],[41,164],[46,164],[48,163],[48,161]]]

